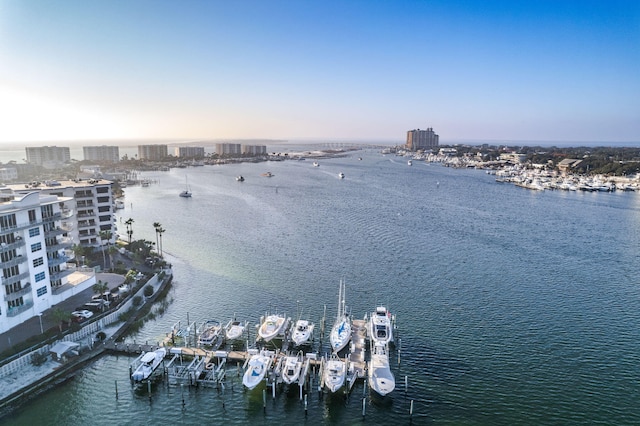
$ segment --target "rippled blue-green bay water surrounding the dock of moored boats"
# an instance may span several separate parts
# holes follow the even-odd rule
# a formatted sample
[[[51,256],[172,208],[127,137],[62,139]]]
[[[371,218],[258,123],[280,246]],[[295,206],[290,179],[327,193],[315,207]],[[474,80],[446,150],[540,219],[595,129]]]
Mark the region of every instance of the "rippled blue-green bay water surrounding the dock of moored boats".
[[[640,194],[527,191],[375,151],[144,176],[155,183],[126,189],[122,221],[154,242],[162,224],[175,279],[168,310],[130,342],[187,314],[319,322],[344,279],[353,316],[397,315],[396,390],[313,391],[305,417],[297,388],[263,410],[232,376],[185,389],[183,408],[180,388],[150,401],[129,386],[131,359],[106,356],[1,424],[407,424],[411,401],[414,424],[640,423]],[[178,197],[185,181],[192,199]]]

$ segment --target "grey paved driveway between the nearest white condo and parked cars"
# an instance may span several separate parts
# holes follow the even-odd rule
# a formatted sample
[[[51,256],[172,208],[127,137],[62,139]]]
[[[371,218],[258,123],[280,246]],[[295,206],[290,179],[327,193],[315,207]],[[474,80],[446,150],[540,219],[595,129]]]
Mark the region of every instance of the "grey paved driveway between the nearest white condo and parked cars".
[[[110,273],[99,273],[96,274],[96,282],[98,280],[102,280],[102,282],[107,283],[109,286],[109,290],[112,288],[120,286],[124,282],[124,276],[118,274],[110,274]],[[65,311],[73,311],[75,308],[82,306],[86,302],[91,300],[91,297],[95,293],[92,288],[88,288],[67,300],[64,300],[57,305],[53,306],[51,309],[47,309],[44,311],[42,315],[42,329],[40,328],[40,318],[34,317],[30,318],[22,324],[10,329],[9,331],[0,334],[0,353],[9,349],[11,346],[21,343],[27,340],[31,336],[35,336],[36,334],[40,334],[42,330],[48,330],[52,327],[57,327],[58,324],[54,322],[51,311],[54,308],[60,308]]]

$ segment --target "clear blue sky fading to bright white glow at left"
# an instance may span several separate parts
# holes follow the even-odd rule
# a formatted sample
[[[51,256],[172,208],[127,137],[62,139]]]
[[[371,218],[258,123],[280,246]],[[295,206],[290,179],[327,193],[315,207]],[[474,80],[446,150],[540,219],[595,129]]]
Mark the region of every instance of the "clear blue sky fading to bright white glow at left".
[[[640,1],[0,0],[0,147],[640,141]]]

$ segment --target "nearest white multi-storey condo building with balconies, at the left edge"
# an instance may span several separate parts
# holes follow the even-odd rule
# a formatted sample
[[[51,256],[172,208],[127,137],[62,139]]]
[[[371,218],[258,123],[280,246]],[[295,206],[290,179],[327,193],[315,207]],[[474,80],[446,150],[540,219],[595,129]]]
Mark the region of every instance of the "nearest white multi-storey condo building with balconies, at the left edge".
[[[0,333],[95,284],[69,267],[74,199],[0,187]]]

